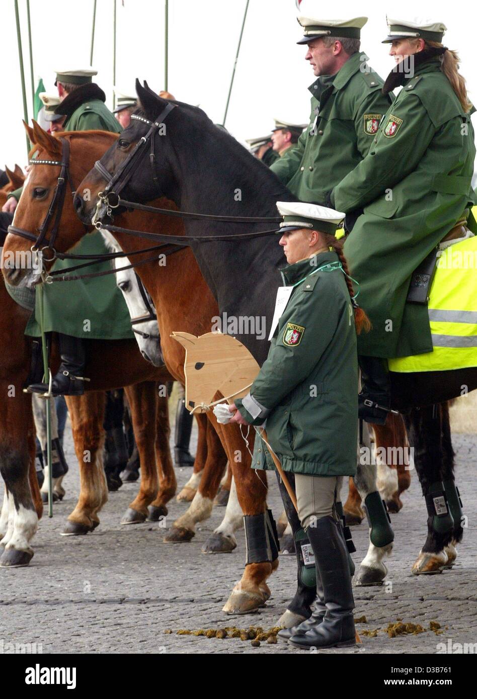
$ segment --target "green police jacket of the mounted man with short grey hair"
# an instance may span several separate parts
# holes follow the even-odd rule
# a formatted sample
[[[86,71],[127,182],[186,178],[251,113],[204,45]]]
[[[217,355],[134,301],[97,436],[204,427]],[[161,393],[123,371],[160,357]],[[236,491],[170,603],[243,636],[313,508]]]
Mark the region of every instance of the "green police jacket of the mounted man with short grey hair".
[[[383,80],[366,59],[355,53],[336,75],[313,82],[310,125],[270,168],[301,201],[326,203],[369,151],[390,106],[392,96],[382,94]]]

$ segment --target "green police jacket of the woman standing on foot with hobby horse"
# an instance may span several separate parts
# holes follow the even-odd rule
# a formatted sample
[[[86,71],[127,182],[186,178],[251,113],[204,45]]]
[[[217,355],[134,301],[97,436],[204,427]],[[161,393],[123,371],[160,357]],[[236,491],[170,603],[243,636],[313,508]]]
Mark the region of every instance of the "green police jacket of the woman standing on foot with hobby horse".
[[[322,252],[282,271],[284,284],[294,285],[292,295],[250,394],[235,401],[249,424],[266,418],[271,448],[283,470],[293,473],[356,471],[356,331],[337,264],[336,252]],[[271,468],[271,463],[257,438],[252,468]]]

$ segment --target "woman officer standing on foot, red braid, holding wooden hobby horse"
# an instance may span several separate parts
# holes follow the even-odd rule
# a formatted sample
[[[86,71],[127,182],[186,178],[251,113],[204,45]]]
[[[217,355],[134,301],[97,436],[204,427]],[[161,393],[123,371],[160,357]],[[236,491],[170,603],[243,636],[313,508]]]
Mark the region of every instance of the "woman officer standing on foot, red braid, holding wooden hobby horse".
[[[364,314],[334,237],[344,214],[301,202],[277,206],[289,263],[277,296],[285,308],[250,393],[229,410],[239,424],[266,420],[269,445],[283,470],[294,473],[298,516],[315,556],[315,612],[285,638],[300,648],[349,646],[355,644],[354,601],[336,501],[343,476],[356,470],[356,329]],[[252,468],[273,468],[259,438]]]

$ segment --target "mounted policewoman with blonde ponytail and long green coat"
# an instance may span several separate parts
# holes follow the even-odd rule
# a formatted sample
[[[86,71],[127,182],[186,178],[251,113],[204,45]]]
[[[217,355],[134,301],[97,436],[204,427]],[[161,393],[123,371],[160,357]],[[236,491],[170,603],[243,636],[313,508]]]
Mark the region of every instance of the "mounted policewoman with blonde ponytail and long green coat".
[[[432,352],[426,294],[407,301],[413,273],[474,202],[474,129],[458,57],[442,44],[442,22],[387,20],[396,66],[383,92],[401,92],[371,139],[371,150],[334,188],[340,210],[364,209],[345,244],[372,331],[359,338],[364,387],[359,414],[383,423],[390,408],[387,362]],[[415,288],[414,288],[415,287]],[[412,296],[409,298],[411,299]]]

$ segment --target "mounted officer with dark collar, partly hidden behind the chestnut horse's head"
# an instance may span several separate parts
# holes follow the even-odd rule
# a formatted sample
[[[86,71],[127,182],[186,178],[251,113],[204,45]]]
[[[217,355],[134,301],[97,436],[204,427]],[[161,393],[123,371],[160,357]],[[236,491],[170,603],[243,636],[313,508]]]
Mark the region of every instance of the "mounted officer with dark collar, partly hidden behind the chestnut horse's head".
[[[57,71],[55,85],[61,100],[55,113],[64,115],[65,131],[102,129],[119,133],[122,128],[104,101],[103,90],[92,82],[97,71],[92,68]],[[61,235],[61,232],[60,232]],[[108,252],[101,233],[85,236],[76,247],[76,254],[103,254]],[[57,261],[54,269],[67,269],[74,261]],[[106,266],[107,268],[107,266]],[[95,267],[98,271],[100,267]],[[85,282],[50,284],[43,291],[43,329],[56,331],[59,338],[61,364],[52,379],[52,394],[81,395],[84,392],[85,347],[83,338],[120,339],[133,337],[129,314],[122,294],[113,276]],[[85,309],[83,319],[78,307]],[[86,310],[87,309],[87,310]],[[30,319],[27,334],[38,336],[38,308]],[[85,325],[85,322],[88,324]],[[43,393],[48,385],[31,384],[29,390]]]

